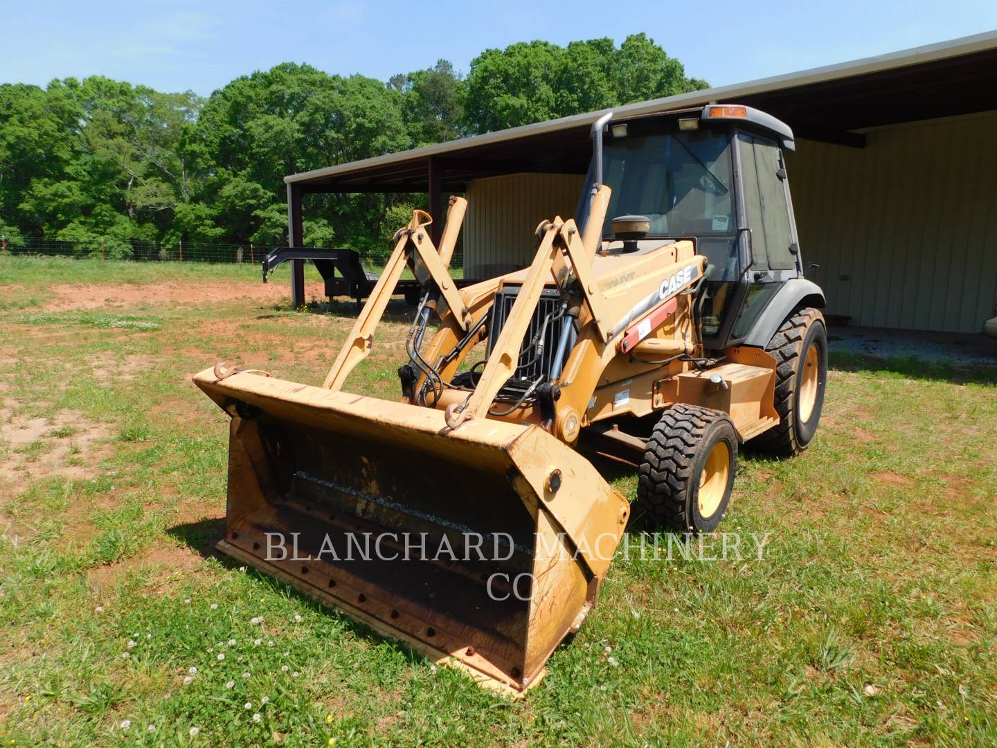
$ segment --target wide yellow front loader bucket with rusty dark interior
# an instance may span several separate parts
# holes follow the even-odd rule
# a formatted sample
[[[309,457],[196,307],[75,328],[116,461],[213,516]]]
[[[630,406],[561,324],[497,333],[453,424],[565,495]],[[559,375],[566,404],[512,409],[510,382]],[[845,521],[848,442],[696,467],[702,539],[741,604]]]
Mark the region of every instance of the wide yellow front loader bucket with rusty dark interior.
[[[594,602],[629,508],[542,429],[449,430],[250,372],[194,382],[231,416],[224,553],[515,692]]]

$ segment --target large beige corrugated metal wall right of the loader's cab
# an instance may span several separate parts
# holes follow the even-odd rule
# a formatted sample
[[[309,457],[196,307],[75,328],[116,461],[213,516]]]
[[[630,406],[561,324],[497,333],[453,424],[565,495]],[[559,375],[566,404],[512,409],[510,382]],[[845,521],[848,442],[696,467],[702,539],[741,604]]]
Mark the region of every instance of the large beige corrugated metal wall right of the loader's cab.
[[[997,301],[997,112],[801,140],[787,160],[808,273],[852,324],[978,332]]]

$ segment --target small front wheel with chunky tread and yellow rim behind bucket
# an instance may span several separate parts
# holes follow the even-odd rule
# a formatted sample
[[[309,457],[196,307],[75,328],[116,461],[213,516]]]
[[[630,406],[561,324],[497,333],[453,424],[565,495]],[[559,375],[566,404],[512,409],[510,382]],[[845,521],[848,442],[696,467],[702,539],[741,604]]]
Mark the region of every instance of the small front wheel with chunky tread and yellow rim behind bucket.
[[[731,502],[738,435],[726,413],[675,405],[647,440],[637,504],[652,524],[678,533],[709,533]]]

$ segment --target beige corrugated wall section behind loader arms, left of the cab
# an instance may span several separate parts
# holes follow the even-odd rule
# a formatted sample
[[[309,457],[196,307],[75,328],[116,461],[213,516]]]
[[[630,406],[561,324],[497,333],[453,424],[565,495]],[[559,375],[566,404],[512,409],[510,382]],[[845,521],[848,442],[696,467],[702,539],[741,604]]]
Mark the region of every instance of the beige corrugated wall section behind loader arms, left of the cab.
[[[475,180],[464,219],[464,274],[487,278],[529,264],[544,218],[574,215],[584,178],[517,174]]]

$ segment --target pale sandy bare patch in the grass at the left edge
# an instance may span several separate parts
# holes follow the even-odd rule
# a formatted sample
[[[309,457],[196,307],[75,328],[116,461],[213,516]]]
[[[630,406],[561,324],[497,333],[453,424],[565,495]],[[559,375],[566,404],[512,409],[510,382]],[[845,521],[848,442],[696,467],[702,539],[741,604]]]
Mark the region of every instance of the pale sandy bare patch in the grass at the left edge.
[[[0,408],[0,498],[4,484],[23,484],[28,478],[61,475],[72,479],[96,474],[97,464],[110,449],[104,441],[110,429],[80,413],[62,410],[51,418],[17,415],[17,403]]]

